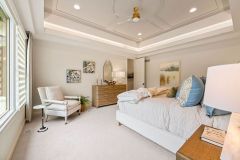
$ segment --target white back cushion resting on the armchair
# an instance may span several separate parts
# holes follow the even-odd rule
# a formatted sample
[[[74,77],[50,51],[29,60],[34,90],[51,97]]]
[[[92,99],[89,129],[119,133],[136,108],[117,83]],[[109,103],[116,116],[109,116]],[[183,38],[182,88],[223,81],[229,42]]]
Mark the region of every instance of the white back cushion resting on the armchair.
[[[46,95],[47,95],[47,99],[49,99],[49,100],[58,100],[58,101],[64,100],[62,91],[61,91],[60,87],[58,87],[58,86],[46,87]]]

